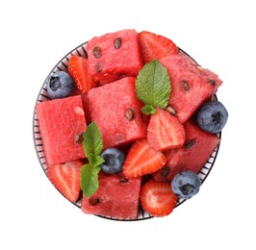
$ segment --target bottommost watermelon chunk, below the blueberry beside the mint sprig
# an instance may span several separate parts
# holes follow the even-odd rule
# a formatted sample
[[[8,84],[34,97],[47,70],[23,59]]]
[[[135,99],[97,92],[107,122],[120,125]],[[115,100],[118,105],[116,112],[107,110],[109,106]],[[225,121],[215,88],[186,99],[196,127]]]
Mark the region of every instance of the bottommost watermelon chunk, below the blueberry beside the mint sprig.
[[[118,219],[137,218],[141,178],[127,179],[122,173],[108,175],[99,173],[99,188],[82,201],[82,211]]]

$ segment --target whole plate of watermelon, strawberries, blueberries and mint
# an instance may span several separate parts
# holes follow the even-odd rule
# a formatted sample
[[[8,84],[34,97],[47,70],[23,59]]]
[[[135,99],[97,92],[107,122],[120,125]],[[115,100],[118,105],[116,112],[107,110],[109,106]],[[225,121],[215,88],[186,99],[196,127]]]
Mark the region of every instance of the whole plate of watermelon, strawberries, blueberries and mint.
[[[136,30],[91,38],[40,90],[38,159],[83,213],[166,216],[213,166],[228,118],[221,84],[169,38]]]

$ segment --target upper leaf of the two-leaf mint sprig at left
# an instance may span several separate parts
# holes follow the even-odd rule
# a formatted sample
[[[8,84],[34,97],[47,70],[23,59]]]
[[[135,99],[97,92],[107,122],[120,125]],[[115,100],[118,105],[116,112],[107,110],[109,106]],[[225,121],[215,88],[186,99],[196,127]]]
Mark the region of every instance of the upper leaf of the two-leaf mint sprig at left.
[[[100,131],[95,122],[90,123],[83,137],[84,150],[90,164],[97,164],[97,156],[99,156],[103,150],[103,142]]]

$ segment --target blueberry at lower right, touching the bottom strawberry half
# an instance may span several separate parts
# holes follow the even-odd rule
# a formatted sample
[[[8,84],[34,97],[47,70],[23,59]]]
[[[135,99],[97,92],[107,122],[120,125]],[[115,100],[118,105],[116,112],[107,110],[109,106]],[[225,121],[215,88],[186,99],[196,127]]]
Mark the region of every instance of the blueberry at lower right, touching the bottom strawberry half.
[[[190,199],[201,186],[199,177],[192,171],[182,171],[174,176],[171,181],[172,191],[183,199]]]

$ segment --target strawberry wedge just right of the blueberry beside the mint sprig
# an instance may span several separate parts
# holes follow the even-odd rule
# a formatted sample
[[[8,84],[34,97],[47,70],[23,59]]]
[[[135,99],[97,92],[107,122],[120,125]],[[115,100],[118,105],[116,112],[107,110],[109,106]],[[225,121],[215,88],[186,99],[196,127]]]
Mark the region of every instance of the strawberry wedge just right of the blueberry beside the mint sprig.
[[[146,138],[137,140],[132,145],[123,165],[127,178],[153,173],[166,164],[166,156],[154,150]]]

